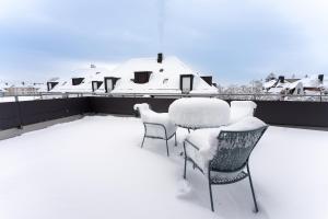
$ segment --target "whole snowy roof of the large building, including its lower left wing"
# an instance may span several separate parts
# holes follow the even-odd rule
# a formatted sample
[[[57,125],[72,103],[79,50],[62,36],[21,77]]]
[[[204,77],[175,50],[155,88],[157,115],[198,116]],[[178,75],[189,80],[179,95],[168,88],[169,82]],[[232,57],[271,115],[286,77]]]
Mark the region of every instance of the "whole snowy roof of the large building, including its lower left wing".
[[[151,71],[148,83],[134,83],[136,71]],[[132,58],[113,70],[105,68],[89,68],[75,70],[71,78],[84,78],[81,84],[72,85],[71,78],[60,79],[54,92],[92,92],[92,81],[104,81],[105,77],[115,77],[117,81],[112,93],[181,93],[179,89],[180,74],[194,76],[194,88],[191,93],[216,93],[216,88],[209,85],[199,74],[180,61],[178,58],[171,56],[159,64],[156,58]],[[105,92],[104,83],[96,91]]]

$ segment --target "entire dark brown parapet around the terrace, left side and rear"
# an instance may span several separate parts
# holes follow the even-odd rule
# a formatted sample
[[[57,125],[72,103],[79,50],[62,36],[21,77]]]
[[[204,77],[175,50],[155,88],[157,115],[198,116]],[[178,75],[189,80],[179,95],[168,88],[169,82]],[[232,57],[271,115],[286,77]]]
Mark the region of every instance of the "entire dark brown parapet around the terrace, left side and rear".
[[[83,113],[133,115],[133,105],[149,103],[164,113],[172,97],[70,97],[0,103],[0,130]],[[270,125],[328,127],[328,102],[256,101],[255,116]]]

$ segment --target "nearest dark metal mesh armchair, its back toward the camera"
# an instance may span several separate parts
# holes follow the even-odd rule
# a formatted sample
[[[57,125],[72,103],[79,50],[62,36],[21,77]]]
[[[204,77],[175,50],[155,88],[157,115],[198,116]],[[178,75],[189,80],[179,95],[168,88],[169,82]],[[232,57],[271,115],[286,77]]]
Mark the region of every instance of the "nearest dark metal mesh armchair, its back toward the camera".
[[[253,149],[266,130],[267,126],[247,131],[220,131],[218,148],[213,151],[213,158],[204,162],[204,165],[199,164],[199,159],[197,159],[199,147],[188,140],[188,138],[184,141],[184,178],[186,178],[187,161],[191,161],[194,169],[197,168],[204,175],[207,174],[212,211],[214,211],[212,185],[231,184],[246,177],[249,180],[255,211],[258,211],[248,160]]]

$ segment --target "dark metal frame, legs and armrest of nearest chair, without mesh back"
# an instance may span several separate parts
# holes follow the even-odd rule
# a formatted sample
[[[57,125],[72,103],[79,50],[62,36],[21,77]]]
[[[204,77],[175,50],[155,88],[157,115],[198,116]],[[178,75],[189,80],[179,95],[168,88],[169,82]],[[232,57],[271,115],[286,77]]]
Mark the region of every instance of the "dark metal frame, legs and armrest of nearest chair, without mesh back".
[[[259,138],[257,139],[257,141],[254,143],[249,155],[246,160],[246,162],[238,169],[236,170],[232,170],[232,171],[222,171],[222,170],[215,170],[213,168],[211,168],[211,163],[213,162],[213,160],[211,160],[209,162],[209,166],[208,166],[208,181],[209,181],[209,192],[210,192],[210,201],[211,201],[211,210],[214,211],[214,206],[213,206],[213,197],[212,197],[212,185],[226,185],[226,184],[232,184],[232,183],[236,183],[239,182],[246,177],[248,177],[249,180],[249,184],[250,184],[250,191],[251,191],[251,196],[253,196],[253,200],[254,200],[254,206],[255,206],[255,212],[258,212],[258,205],[256,201],[256,196],[255,196],[255,189],[253,186],[253,181],[251,181],[251,175],[250,175],[250,170],[249,170],[249,165],[248,165],[248,161],[249,161],[249,157],[251,151],[254,150],[254,148],[256,147],[256,145],[258,143],[258,141],[261,139],[262,135],[265,134],[265,131],[267,130],[268,126],[258,128],[258,129],[254,129],[254,130],[247,130],[247,131],[220,131],[220,135],[218,137],[219,139],[219,145],[220,145],[220,139],[224,138],[226,136],[226,134],[229,135],[230,132],[248,132],[248,131],[258,131],[261,130],[261,134],[259,136]],[[202,174],[204,174],[204,171],[189,157],[187,157],[187,152],[186,152],[186,143],[189,143],[191,147],[194,147],[195,149],[199,150],[199,148],[197,146],[195,146],[192,142],[190,142],[188,139],[186,139],[184,141],[184,151],[185,151],[185,168],[184,168],[184,178],[186,178],[186,174],[187,174],[187,161],[190,161],[194,165],[194,169],[198,169]],[[247,172],[242,171],[244,170],[246,166]],[[226,178],[224,181],[213,181],[211,178],[211,172],[221,172],[221,173],[234,173],[237,171],[242,171],[241,173],[238,173],[237,176],[235,176],[234,178]]]

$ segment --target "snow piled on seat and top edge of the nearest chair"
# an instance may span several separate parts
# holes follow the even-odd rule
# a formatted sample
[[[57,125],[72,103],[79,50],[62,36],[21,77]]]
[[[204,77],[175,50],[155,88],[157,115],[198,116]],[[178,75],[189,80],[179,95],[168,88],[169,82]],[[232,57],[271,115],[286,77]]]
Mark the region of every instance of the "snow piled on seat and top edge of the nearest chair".
[[[202,170],[207,171],[208,162],[213,159],[216,153],[220,131],[245,131],[253,130],[266,126],[266,124],[253,116],[244,117],[235,124],[222,126],[220,128],[206,128],[192,131],[187,136],[188,141],[199,148],[187,147],[188,155],[199,164]]]

